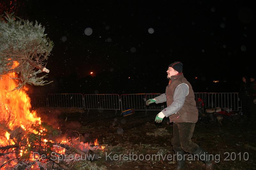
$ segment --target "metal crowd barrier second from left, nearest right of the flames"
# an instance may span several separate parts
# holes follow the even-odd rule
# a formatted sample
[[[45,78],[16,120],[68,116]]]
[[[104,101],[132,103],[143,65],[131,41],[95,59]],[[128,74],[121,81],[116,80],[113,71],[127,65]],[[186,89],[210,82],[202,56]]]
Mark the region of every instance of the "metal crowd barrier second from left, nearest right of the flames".
[[[83,95],[80,93],[48,94],[49,107],[84,108]]]

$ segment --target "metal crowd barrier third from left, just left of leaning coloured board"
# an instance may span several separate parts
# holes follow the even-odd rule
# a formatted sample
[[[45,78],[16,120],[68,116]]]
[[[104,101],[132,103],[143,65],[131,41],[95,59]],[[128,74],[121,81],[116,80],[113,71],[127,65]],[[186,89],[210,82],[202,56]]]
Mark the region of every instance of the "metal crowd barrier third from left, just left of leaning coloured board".
[[[120,110],[118,94],[84,94],[84,109]]]

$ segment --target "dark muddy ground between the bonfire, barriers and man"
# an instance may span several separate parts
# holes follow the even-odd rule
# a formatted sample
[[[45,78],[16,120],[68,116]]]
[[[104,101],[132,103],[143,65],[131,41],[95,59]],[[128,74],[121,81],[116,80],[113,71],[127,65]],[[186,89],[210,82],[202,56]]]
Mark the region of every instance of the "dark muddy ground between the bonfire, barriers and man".
[[[100,153],[102,158],[93,161],[90,166],[80,165],[80,169],[175,169],[177,166],[172,158],[167,160],[167,155],[174,155],[171,145],[172,124],[167,123],[167,118],[160,124],[155,123],[158,111],[149,111],[147,115],[145,111],[135,111],[135,114],[125,117],[120,111],[115,114],[112,110],[90,110],[88,115],[87,110],[79,109],[40,108],[37,112],[51,117],[43,120],[60,126],[62,133],[76,136],[73,131],[78,131],[84,142],[93,143],[97,138],[100,145],[106,146],[104,152]],[[219,122],[197,122],[192,141],[214,155],[216,169],[256,169],[254,125],[248,121],[230,121],[225,118],[222,125]],[[141,159],[147,154],[159,157],[129,160],[132,159],[132,153]],[[118,156],[114,160],[115,154],[127,156]],[[164,155],[166,157],[163,160]],[[136,159],[136,156],[133,158]],[[191,156],[188,159],[185,169],[204,169],[202,161],[191,160]]]

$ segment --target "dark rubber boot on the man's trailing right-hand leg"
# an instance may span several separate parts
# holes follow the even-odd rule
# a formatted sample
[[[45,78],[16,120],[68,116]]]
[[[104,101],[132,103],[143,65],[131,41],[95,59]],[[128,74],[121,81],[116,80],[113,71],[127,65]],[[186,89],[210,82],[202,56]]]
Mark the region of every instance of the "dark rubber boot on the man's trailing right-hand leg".
[[[214,169],[214,160],[212,156],[210,157],[210,154],[206,152],[203,148],[199,146],[196,152],[194,152],[194,155],[198,155],[198,158],[205,163],[205,170]]]

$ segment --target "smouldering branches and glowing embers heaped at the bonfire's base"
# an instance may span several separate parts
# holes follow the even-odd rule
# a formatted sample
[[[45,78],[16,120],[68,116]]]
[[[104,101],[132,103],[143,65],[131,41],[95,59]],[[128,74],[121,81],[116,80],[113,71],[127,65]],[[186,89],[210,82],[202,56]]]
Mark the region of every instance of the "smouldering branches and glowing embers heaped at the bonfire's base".
[[[70,169],[77,161],[97,160],[98,155],[94,151],[104,150],[97,140],[94,144],[79,142],[79,137],[67,141],[48,140],[52,132],[45,129],[43,123],[39,126],[32,124],[29,129],[17,127],[14,130],[1,124],[1,135],[4,128],[8,130],[5,137],[9,143],[0,147],[0,168],[3,169]]]

